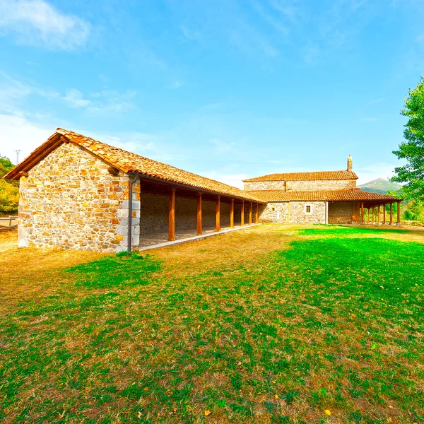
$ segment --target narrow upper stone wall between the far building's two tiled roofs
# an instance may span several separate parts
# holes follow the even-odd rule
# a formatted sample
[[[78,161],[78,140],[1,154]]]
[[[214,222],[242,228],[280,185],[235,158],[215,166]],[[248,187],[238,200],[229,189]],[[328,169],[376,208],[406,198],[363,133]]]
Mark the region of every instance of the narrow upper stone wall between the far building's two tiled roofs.
[[[312,190],[341,190],[356,187],[355,179],[326,179],[320,181],[257,181],[245,182],[245,190],[285,190],[285,191],[312,191]]]

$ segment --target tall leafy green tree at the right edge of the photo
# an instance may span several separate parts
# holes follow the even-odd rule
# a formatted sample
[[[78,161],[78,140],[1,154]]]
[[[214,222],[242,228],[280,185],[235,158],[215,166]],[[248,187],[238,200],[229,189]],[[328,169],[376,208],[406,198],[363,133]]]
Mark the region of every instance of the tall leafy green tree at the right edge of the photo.
[[[391,181],[405,182],[404,191],[410,199],[424,200],[424,76],[416,88],[409,90],[401,114],[408,117],[405,140],[393,153],[399,159],[406,159],[407,163],[396,167],[396,175]]]

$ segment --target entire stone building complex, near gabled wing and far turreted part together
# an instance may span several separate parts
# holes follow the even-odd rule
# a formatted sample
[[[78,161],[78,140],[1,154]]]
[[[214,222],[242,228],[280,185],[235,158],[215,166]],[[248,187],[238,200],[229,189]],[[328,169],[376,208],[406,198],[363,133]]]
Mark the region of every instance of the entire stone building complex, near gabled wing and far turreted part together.
[[[364,208],[394,199],[356,189],[351,164],[246,179],[241,190],[57,129],[5,178],[20,179],[20,247],[119,252],[259,222],[363,222]]]

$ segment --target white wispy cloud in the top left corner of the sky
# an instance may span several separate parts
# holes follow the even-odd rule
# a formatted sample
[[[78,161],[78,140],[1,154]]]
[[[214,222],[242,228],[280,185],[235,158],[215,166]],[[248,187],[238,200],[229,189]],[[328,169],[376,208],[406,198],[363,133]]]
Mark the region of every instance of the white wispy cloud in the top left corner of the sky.
[[[43,0],[1,0],[0,35],[11,34],[16,42],[70,50],[85,45],[90,24],[61,13]]]

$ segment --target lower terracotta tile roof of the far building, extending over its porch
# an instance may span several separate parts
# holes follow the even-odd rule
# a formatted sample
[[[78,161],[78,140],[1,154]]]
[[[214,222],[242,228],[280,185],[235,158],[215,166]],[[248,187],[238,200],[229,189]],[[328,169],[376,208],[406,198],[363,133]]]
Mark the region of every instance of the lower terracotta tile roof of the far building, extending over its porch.
[[[285,192],[284,190],[254,190],[264,201],[392,201],[394,196],[363,192],[360,189]]]

